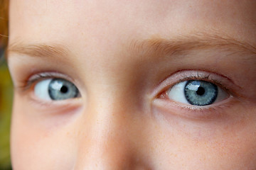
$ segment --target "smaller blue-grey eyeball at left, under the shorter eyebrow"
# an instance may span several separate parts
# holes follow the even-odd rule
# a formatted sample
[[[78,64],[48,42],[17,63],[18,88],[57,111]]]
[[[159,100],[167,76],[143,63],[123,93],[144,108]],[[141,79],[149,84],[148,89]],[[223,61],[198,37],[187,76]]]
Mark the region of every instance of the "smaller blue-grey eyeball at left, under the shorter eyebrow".
[[[60,101],[68,98],[78,98],[78,88],[65,79],[45,79],[34,87],[34,94],[46,101]]]

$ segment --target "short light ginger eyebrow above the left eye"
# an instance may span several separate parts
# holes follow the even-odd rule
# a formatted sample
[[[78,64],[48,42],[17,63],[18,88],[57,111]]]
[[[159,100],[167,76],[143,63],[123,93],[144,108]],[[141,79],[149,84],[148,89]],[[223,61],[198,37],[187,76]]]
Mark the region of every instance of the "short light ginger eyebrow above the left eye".
[[[7,54],[16,52],[31,57],[65,57],[70,53],[68,48],[59,44],[36,44],[25,45],[21,42],[15,42],[7,47]]]

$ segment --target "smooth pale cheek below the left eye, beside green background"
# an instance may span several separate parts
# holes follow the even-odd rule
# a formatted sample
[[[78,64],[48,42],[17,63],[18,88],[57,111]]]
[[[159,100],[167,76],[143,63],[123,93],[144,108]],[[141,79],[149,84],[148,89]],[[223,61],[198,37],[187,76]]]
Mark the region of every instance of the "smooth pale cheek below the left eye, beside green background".
[[[42,128],[26,116],[33,112],[27,108],[30,106],[15,96],[11,125],[13,168],[73,169],[76,149],[74,142],[66,137],[66,129]]]

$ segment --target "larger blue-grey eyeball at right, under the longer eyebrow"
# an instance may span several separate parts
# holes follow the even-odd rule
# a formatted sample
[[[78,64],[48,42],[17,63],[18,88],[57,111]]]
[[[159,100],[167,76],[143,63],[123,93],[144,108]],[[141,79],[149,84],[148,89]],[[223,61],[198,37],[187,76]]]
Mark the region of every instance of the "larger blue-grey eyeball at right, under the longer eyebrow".
[[[169,89],[167,95],[174,101],[195,106],[207,106],[228,97],[219,86],[202,80],[182,81]]]

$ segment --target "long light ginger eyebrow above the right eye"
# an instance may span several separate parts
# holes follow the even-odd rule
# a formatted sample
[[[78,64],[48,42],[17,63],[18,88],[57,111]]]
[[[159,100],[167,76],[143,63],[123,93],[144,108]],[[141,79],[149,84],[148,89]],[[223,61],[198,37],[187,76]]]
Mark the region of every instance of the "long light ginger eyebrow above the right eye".
[[[235,38],[219,35],[195,34],[176,38],[150,38],[134,40],[130,49],[135,52],[154,52],[161,55],[182,55],[188,50],[204,50],[209,48],[224,49],[230,52],[246,52],[256,55],[256,45]],[[254,56],[255,57],[255,56]]]

